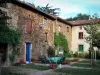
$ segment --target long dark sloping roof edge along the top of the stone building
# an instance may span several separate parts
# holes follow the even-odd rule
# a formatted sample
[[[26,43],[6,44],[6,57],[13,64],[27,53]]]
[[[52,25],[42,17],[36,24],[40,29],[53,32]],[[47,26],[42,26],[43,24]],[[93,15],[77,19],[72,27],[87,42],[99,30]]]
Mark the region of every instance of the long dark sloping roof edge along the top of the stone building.
[[[53,20],[56,20],[56,19],[57,19],[58,21],[60,21],[60,22],[62,22],[62,23],[65,23],[65,24],[71,26],[71,24],[70,24],[69,22],[66,22],[64,19],[62,19],[62,18],[60,18],[60,17],[52,16],[52,15],[47,14],[47,13],[45,13],[45,12],[42,12],[42,11],[38,10],[37,8],[35,8],[34,6],[29,5],[29,4],[27,4],[27,3],[24,3],[24,2],[22,2],[22,1],[19,1],[19,0],[11,0],[11,2],[14,3],[14,4],[16,4],[16,5],[18,5],[18,6],[23,7],[23,8],[25,8],[25,9],[28,9],[28,10],[31,10],[31,11],[34,11],[34,12],[37,12],[37,13],[39,13],[39,14],[41,14],[41,15],[43,15],[43,16],[46,16],[46,17],[48,17],[48,18],[50,18],[50,19],[53,19]]]

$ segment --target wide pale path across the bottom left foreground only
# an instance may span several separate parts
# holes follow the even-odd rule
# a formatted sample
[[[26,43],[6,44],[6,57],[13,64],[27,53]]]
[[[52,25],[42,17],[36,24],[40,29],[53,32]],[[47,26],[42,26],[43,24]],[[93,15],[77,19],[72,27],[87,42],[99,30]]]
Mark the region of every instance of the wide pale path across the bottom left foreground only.
[[[45,70],[45,71],[39,71],[39,70],[33,70],[33,69],[26,69],[26,68],[21,68],[21,67],[5,67],[2,68],[2,70],[9,70],[11,72],[14,73],[20,73],[20,74],[25,74],[25,75],[64,75],[61,73],[56,73],[54,72],[54,70],[49,69],[49,70]]]

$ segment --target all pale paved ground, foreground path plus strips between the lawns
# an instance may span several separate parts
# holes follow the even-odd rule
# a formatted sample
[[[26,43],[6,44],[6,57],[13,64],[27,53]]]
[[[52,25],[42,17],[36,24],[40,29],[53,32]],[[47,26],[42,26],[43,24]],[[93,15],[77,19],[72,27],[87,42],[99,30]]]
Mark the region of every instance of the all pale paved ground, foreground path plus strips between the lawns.
[[[74,64],[74,62],[71,63],[71,64]],[[48,66],[49,64],[35,63],[35,65],[45,65],[45,66]],[[74,67],[74,66],[70,66],[70,65],[61,65],[61,68],[63,68],[63,67],[83,69],[83,67]],[[91,68],[85,68],[85,69],[91,69]],[[39,71],[39,70],[26,69],[26,68],[16,67],[16,66],[2,68],[2,70],[9,70],[9,71],[14,72],[14,73],[21,73],[21,74],[25,74],[25,75],[65,75],[64,73],[58,73],[58,72],[56,73],[52,69],[44,70],[44,71]]]

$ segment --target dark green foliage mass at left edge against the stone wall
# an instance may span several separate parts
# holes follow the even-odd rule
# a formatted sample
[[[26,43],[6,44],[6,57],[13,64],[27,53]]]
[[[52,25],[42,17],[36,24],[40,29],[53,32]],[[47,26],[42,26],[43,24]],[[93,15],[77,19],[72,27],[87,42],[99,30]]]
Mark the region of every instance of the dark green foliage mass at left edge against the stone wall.
[[[20,32],[9,28],[8,19],[7,15],[0,11],[0,43],[17,45],[19,43]]]

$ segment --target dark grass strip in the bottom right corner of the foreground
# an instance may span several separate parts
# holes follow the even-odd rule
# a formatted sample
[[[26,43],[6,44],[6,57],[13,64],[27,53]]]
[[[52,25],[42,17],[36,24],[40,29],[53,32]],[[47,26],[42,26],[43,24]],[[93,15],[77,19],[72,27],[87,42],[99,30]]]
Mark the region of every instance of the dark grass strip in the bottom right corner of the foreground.
[[[99,75],[100,70],[94,69],[76,69],[76,68],[61,68],[55,70],[56,72],[66,73],[66,75]]]

